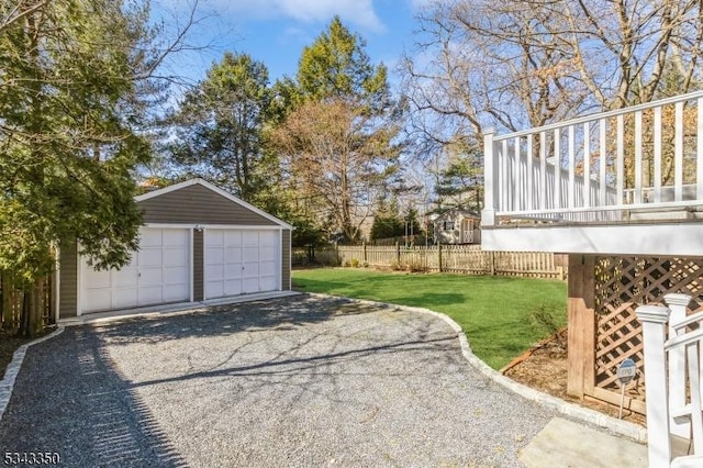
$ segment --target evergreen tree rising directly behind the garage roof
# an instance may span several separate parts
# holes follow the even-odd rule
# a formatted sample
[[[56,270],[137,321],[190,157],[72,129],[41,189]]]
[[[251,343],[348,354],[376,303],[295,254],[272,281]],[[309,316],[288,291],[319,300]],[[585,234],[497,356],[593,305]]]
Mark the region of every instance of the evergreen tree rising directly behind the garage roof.
[[[278,163],[263,144],[271,97],[266,66],[247,54],[227,52],[171,116],[177,129],[172,161],[190,176],[266,205]]]

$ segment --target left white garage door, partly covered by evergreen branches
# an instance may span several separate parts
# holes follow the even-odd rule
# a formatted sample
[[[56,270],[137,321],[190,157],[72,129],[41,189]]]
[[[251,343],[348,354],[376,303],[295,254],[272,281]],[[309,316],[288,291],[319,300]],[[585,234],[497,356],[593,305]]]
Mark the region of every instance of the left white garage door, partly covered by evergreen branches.
[[[190,300],[189,250],[189,230],[143,227],[130,265],[96,271],[82,264],[82,312]]]

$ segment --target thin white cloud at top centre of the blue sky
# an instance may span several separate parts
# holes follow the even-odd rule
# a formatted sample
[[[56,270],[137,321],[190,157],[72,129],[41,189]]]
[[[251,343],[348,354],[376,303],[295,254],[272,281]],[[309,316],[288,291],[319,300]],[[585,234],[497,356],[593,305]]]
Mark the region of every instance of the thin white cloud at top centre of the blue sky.
[[[356,29],[373,33],[386,31],[372,0],[214,0],[205,4],[214,3],[239,19],[286,16],[302,23],[320,23],[337,14]]]

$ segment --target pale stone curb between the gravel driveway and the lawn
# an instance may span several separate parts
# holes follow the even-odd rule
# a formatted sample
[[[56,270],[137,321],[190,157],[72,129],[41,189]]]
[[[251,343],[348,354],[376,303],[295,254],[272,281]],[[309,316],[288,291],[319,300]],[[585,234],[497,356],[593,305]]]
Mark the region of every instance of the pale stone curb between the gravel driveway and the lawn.
[[[392,304],[388,302],[379,302],[379,301],[369,301],[365,299],[350,299],[343,298],[339,296],[331,296],[331,294],[320,294],[320,293],[308,293],[312,297],[321,297],[321,298],[335,298],[335,299],[347,299],[350,301],[355,301],[362,304],[375,304],[382,305],[386,308],[393,308],[398,310],[403,310],[408,312],[416,312],[431,314],[438,319],[444,320],[450,327],[457,333],[457,337],[459,338],[459,345],[461,347],[461,354],[469,361],[469,364],[478,369],[481,374],[483,374],[489,379],[494,382],[507,388],[509,390],[520,394],[521,397],[537,402],[544,406],[550,408],[561,414],[565,414],[574,420],[582,421],[584,423],[589,423],[599,427],[603,427],[609,432],[617,435],[622,435],[632,441],[638,442],[640,444],[647,443],[647,430],[637,424],[629,423],[622,420],[616,420],[615,417],[611,417],[606,414],[600,413],[594,410],[590,410],[588,408],[580,406],[574,403],[569,403],[567,401],[561,400],[560,398],[553,397],[550,394],[540,392],[522,383],[517,383],[516,381],[503,376],[498,370],[494,370],[489,365],[479,359],[472,352],[471,346],[469,345],[469,341],[466,337],[466,334],[461,330],[458,323],[451,320],[448,315],[445,315],[440,312],[435,312],[429,309],[424,308],[413,308],[408,305],[399,305]]]

